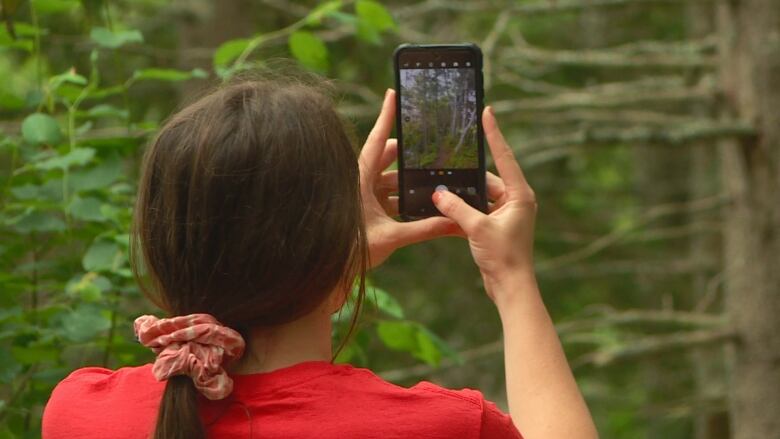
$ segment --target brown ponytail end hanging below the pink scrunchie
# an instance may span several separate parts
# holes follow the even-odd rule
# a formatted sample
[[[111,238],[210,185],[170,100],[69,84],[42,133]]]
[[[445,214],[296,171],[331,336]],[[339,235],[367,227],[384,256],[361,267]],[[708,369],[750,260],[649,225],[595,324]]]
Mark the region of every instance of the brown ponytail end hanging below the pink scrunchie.
[[[206,439],[197,396],[192,378],[186,375],[168,378],[153,439]]]

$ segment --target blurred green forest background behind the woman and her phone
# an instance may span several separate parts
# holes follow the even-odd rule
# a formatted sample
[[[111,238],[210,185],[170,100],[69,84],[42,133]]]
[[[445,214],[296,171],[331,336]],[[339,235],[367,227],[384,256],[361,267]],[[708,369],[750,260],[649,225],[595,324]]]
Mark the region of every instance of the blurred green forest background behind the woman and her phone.
[[[466,41],[536,190],[538,279],[602,437],[780,437],[777,0],[0,7],[0,438],[39,436],[74,368],[151,359],[128,229],[172,111],[290,58],[336,81],[362,139],[398,44]],[[464,241],[370,277],[339,361],[506,408],[498,316]]]

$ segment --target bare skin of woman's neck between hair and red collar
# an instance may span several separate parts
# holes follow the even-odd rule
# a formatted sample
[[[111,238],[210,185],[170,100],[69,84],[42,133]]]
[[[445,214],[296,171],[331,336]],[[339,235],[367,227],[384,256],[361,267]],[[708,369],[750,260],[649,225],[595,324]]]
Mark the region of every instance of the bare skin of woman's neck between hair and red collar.
[[[331,321],[327,306],[273,328],[255,328],[248,334],[244,355],[227,367],[232,374],[270,372],[304,361],[330,361]]]

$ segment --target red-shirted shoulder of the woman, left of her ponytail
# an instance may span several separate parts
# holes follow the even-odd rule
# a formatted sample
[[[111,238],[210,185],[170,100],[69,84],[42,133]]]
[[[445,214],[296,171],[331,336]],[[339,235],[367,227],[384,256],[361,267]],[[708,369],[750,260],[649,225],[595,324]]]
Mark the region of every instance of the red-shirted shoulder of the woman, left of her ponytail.
[[[126,431],[128,425],[143,426],[146,434],[149,423],[143,420],[154,421],[163,389],[148,364],[77,369],[52,391],[43,412],[43,437],[88,438],[95,432]],[[142,437],[130,433],[115,437]]]

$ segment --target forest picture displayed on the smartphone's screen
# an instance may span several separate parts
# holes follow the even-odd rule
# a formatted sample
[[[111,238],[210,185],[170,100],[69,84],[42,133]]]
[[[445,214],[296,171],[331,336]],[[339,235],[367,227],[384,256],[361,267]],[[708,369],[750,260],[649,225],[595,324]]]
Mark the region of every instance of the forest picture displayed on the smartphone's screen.
[[[478,168],[474,69],[402,69],[404,167]]]

